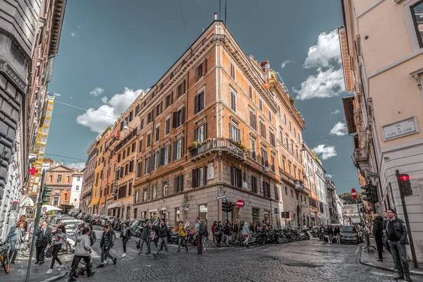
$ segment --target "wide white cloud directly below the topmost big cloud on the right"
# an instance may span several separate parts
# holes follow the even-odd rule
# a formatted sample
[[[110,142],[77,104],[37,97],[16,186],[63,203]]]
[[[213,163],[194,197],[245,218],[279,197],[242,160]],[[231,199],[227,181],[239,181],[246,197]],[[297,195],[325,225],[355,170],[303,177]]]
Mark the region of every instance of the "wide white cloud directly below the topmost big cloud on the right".
[[[310,75],[301,83],[299,89],[294,88],[293,91],[298,94],[297,99],[300,100],[338,96],[340,92],[345,91],[343,71],[341,68],[338,71],[333,68],[320,70],[317,75]]]

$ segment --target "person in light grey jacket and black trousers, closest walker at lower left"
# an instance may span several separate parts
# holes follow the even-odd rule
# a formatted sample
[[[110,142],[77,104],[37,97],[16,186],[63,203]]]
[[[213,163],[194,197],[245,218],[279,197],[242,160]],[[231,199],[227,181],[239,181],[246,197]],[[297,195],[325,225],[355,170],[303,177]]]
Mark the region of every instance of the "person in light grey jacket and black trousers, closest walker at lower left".
[[[71,273],[69,274],[69,281],[76,281],[75,270],[78,267],[81,259],[85,262],[85,268],[87,269],[87,276],[90,277],[95,274],[91,271],[91,240],[90,240],[90,229],[84,228],[81,235],[76,238],[75,243],[75,255],[73,256]]]

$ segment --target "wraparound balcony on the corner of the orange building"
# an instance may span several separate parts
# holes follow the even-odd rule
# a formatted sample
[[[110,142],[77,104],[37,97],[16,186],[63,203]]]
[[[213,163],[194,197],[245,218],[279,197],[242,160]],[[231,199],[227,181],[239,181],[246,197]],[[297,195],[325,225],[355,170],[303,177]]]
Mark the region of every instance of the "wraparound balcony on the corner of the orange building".
[[[245,161],[245,157],[247,156],[247,152],[243,147],[240,147],[238,143],[226,138],[213,138],[203,142],[197,147],[188,147],[188,149],[190,150],[191,161],[206,157],[216,151],[228,154],[238,161]]]

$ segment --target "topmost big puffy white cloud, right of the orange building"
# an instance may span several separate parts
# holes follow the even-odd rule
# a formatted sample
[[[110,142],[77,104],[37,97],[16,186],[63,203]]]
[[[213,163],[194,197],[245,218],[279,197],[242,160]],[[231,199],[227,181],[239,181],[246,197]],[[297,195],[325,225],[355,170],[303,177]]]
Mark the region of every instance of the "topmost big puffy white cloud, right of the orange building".
[[[309,47],[305,68],[328,68],[331,63],[341,63],[341,49],[339,44],[338,30],[321,32],[317,38],[317,44]]]

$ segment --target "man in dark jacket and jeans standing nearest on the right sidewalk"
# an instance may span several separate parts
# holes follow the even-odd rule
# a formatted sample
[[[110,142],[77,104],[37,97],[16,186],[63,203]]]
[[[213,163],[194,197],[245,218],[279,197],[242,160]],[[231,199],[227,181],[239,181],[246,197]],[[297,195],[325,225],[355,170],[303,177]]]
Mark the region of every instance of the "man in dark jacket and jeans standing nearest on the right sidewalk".
[[[408,244],[407,228],[404,221],[396,217],[396,212],[393,209],[386,211],[389,221],[386,223],[386,233],[388,234],[389,247],[396,269],[398,269],[398,276],[394,279],[404,279],[405,281],[412,281],[410,278],[410,266],[407,261],[407,252],[405,245]]]

